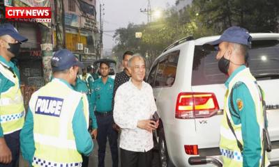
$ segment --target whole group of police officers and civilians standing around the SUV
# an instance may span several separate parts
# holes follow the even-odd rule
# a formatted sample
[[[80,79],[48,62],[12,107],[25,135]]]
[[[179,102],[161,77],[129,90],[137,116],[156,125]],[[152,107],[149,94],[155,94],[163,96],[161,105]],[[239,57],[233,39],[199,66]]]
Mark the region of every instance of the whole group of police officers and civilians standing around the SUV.
[[[246,29],[231,27],[210,43],[218,47],[220,71],[229,76],[220,134],[224,166],[260,166],[264,159],[262,92],[245,61],[250,40]],[[159,122],[152,120],[157,108],[144,81],[144,58],[126,51],[115,79],[109,77],[110,63],[100,62],[98,78],[91,67],[79,75],[84,65],[60,49],[52,57],[52,81],[33,93],[26,113],[19,70],[10,61],[26,41],[13,25],[0,25],[0,167],[16,166],[20,150],[30,166],[88,166],[92,138],[98,166],[105,166],[108,138],[116,167],[119,133],[121,166],[151,166],[152,131]],[[235,138],[227,138],[230,132]]]

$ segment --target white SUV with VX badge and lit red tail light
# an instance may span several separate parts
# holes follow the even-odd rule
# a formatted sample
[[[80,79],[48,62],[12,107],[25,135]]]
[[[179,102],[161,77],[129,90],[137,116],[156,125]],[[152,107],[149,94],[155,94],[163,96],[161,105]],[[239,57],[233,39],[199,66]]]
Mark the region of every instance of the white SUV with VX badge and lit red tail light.
[[[250,71],[264,89],[272,151],[279,164],[279,33],[251,33]],[[212,36],[183,38],[154,61],[147,82],[156,98],[160,127],[156,133],[160,166],[190,166],[189,158],[221,159],[218,148],[226,77],[218,70],[216,51],[206,48]],[[210,164],[204,166],[212,166]]]

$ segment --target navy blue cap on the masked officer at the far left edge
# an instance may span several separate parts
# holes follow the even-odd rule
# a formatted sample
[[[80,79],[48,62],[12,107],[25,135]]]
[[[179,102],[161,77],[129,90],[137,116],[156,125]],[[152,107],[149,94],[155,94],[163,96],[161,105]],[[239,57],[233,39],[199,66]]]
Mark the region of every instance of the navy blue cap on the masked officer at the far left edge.
[[[11,37],[13,37],[15,40],[19,42],[27,42],[28,40],[24,36],[20,35],[17,29],[15,29],[15,27],[10,23],[5,23],[0,25],[0,36],[2,35],[10,35]]]

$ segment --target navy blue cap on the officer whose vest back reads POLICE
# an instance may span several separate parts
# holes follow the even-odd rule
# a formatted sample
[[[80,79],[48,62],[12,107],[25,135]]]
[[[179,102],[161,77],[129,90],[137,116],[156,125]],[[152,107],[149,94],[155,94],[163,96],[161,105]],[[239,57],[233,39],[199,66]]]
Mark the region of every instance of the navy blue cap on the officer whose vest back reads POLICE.
[[[68,49],[60,49],[59,51],[56,51],[52,57],[53,71],[67,70],[74,65],[84,67],[84,65],[80,61],[77,61],[75,55]]]

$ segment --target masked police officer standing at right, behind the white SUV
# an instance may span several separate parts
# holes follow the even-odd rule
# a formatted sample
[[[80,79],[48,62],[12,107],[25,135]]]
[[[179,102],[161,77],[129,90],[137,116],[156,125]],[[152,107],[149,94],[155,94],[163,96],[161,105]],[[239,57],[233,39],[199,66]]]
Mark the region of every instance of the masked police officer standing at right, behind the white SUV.
[[[265,152],[262,93],[245,65],[251,40],[246,29],[232,26],[210,43],[218,46],[218,67],[229,76],[225,82],[227,92],[220,127],[223,166],[261,166]],[[267,165],[268,160],[265,161]]]

